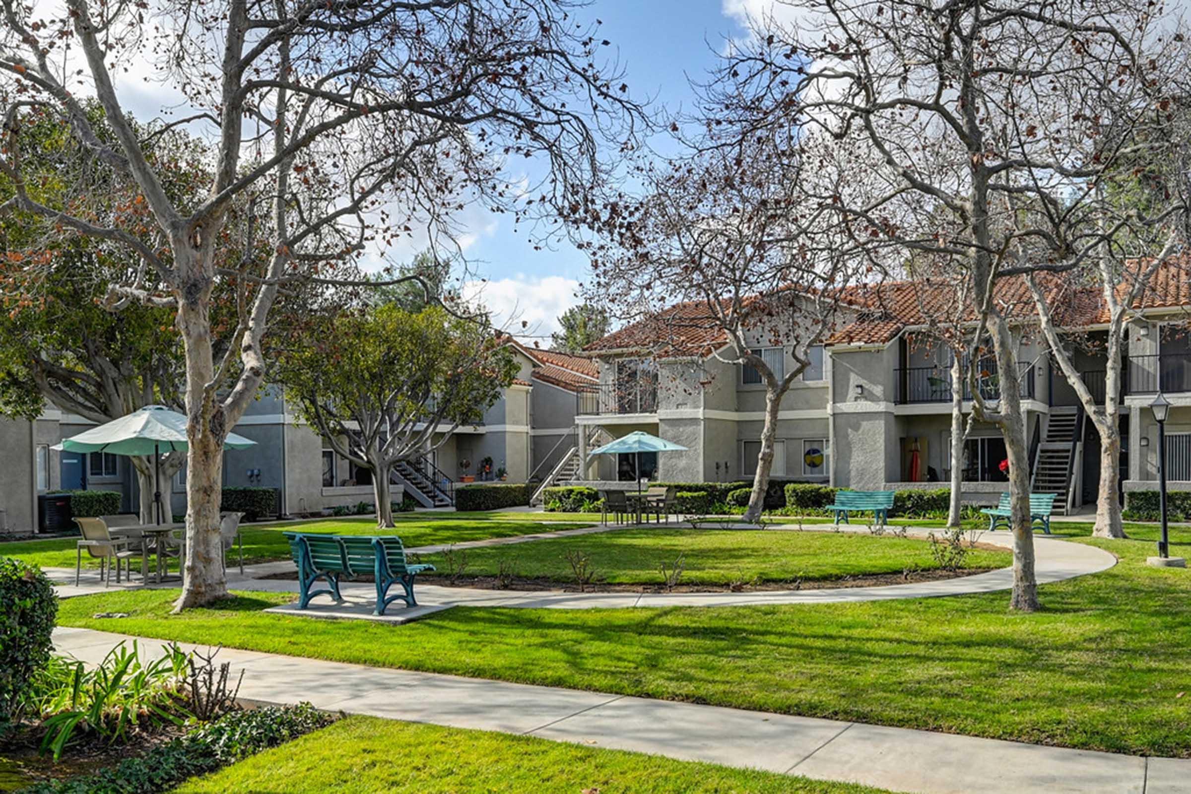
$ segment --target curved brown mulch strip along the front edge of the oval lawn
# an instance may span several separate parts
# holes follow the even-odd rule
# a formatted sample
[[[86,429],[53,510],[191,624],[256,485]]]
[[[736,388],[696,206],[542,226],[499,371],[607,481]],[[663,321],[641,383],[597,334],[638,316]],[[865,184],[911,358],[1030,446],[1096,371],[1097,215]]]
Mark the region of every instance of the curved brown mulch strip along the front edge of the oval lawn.
[[[609,584],[606,582],[594,582],[584,588],[585,593],[762,593],[773,590],[819,590],[841,589],[849,587],[884,587],[887,584],[909,584],[913,582],[937,582],[947,579],[962,579],[975,574],[986,574],[994,568],[964,568],[956,571],[950,570],[916,570],[905,574],[859,574],[856,576],[844,576],[843,579],[798,579],[780,582],[749,582],[743,584],[676,584],[671,590],[666,586],[657,583],[647,584]],[[260,579],[294,581],[298,571],[282,574],[270,574]],[[344,576],[342,581],[372,583],[372,576]],[[515,576],[512,580],[498,581],[495,576],[457,576],[451,580],[449,576],[418,576],[419,584],[435,584],[438,587],[469,587],[486,590],[554,590],[563,593],[578,593],[578,584],[568,584],[544,577]]]

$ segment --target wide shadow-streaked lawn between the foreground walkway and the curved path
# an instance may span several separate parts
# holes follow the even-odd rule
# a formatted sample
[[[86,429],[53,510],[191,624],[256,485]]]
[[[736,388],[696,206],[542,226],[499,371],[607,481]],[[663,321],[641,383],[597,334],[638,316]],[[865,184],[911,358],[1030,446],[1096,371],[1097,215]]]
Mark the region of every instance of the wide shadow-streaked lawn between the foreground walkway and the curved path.
[[[1176,530],[1174,554],[1191,552]],[[1008,593],[774,607],[453,608],[406,626],[260,611],[243,594],[172,617],[176,592],[68,599],[58,623],[378,667],[1191,757],[1191,575],[1149,568],[1151,543],[1072,540],[1115,568]],[[129,618],[93,619],[99,612]]]

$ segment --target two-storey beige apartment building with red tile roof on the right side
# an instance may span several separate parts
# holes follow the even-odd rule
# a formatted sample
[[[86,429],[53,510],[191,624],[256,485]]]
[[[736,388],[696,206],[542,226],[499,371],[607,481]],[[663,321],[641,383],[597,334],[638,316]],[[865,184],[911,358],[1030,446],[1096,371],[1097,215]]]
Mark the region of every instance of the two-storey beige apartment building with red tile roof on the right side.
[[[1191,489],[1191,339],[1186,262],[1159,269],[1128,325],[1127,361],[1118,423],[1124,490],[1156,488],[1156,425],[1148,405],[1161,390],[1174,405],[1167,421],[1167,479]],[[1104,335],[1108,318],[1097,289],[1049,295],[1056,321],[1071,336],[1077,367],[1093,395],[1104,399]],[[782,400],[773,476],[853,488],[946,487],[950,479],[950,351],[931,335],[931,305],[954,295],[921,283],[892,282],[856,289],[849,307],[812,364]],[[1064,494],[1064,509],[1095,502],[1099,439],[1074,390],[1031,321],[1025,285],[1006,280],[998,304],[1015,324],[1021,389],[1030,443],[1031,477],[1039,490]],[[634,430],[687,448],[642,461],[641,474],[666,481],[728,481],[755,471],[765,389],[734,357],[727,337],[697,304],[673,306],[661,317],[629,325],[587,349],[598,363],[597,385],[576,395],[576,423],[611,437]],[[659,329],[667,329],[660,336]],[[774,345],[772,330],[754,350],[778,373],[793,365],[791,346]],[[1098,352],[1099,351],[1099,352]],[[985,399],[999,396],[996,362],[979,362]],[[967,390],[967,389],[966,389]],[[964,412],[972,400],[965,394]],[[586,434],[580,434],[580,440]],[[582,450],[586,452],[586,449]],[[964,492],[974,502],[996,501],[1005,488],[999,431],[981,423],[965,442]],[[593,462],[590,481],[630,480],[635,459]]]

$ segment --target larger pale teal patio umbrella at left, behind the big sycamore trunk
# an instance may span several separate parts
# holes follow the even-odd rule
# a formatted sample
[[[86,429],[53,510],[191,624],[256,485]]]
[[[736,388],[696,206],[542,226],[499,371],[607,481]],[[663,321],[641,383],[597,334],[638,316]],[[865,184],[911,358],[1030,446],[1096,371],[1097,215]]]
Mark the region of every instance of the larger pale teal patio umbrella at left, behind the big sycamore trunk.
[[[224,446],[227,449],[247,449],[255,444],[252,439],[236,433],[227,433],[224,440]],[[68,452],[152,455],[154,502],[157,505],[157,523],[161,524],[161,454],[187,449],[186,417],[163,405],[146,405],[139,411],[66,438],[52,449]]]

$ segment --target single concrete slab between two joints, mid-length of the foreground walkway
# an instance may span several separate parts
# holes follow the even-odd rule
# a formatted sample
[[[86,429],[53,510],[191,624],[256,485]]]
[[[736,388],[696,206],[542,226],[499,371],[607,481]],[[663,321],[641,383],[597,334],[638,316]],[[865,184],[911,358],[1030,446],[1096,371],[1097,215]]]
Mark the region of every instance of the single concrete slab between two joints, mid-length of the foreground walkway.
[[[559,742],[785,773],[848,723],[621,698],[532,731]]]

